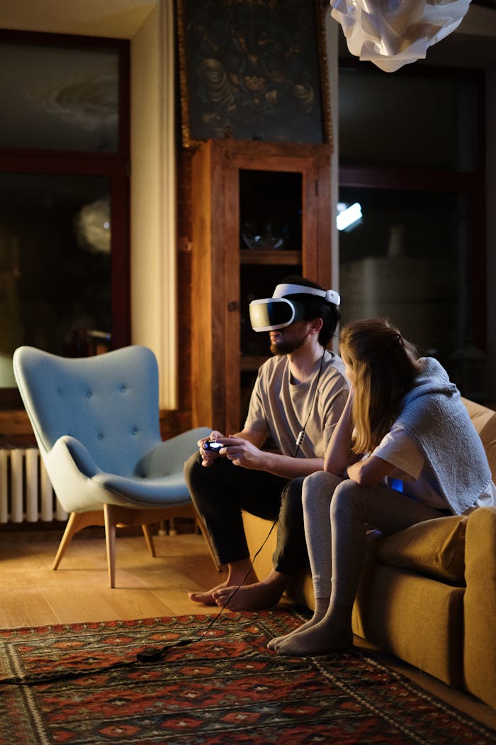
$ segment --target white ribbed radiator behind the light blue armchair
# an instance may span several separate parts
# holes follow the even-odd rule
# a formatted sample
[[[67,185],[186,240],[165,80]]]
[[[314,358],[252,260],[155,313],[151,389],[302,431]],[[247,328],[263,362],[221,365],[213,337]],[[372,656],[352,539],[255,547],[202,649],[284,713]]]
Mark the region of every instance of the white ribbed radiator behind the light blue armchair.
[[[38,448],[0,449],[0,523],[66,519]]]

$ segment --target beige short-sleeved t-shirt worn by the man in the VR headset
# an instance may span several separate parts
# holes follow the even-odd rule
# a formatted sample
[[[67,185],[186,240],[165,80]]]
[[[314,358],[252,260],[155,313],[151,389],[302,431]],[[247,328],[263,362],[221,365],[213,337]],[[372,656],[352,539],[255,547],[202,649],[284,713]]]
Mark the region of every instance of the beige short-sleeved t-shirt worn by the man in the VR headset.
[[[321,360],[308,380],[294,383],[288,355],[275,355],[264,362],[251,393],[245,429],[271,437],[280,453],[293,456],[295,440],[312,410],[298,456],[323,457],[347,402],[349,385],[344,363],[334,352],[326,350],[318,379],[320,367]]]

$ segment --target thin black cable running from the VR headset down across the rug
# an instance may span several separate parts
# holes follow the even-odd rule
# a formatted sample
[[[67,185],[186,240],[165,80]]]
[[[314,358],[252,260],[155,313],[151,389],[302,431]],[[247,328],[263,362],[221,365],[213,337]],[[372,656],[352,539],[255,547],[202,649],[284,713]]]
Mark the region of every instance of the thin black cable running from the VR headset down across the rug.
[[[317,390],[318,390],[318,384],[321,379],[322,369],[323,369],[323,358],[326,354],[326,349],[323,350],[322,356],[321,356],[321,366],[318,370],[317,380],[315,381],[315,389],[312,396],[312,404],[309,408],[308,416],[306,417],[305,424],[303,425],[303,428],[300,430],[300,432],[297,435],[297,438],[295,440],[296,449],[294,451],[293,457],[297,457],[298,452],[300,451],[300,447],[303,444],[303,440],[305,439],[306,434],[306,426],[309,423],[310,416],[312,414],[312,411],[314,409],[315,405],[315,398],[317,396]],[[233,592],[231,595],[229,595],[228,600],[224,603],[222,608],[219,610],[216,615],[213,615],[210,622],[207,624],[207,627],[197,636],[190,636],[183,639],[178,639],[178,641],[171,641],[168,644],[164,644],[162,647],[144,647],[141,652],[138,652],[136,654],[135,659],[129,659],[129,660],[120,660],[119,662],[112,662],[109,665],[103,665],[100,668],[91,668],[89,670],[81,670],[81,671],[66,671],[66,672],[60,672],[60,673],[38,673],[36,676],[13,676],[10,678],[0,678],[0,685],[42,685],[45,683],[53,683],[53,682],[59,682],[61,680],[68,680],[68,679],[74,679],[74,678],[81,678],[83,676],[87,675],[97,675],[98,673],[106,673],[112,670],[122,669],[122,668],[133,668],[138,662],[141,663],[153,663],[160,660],[164,654],[175,647],[185,647],[187,644],[194,644],[198,641],[202,641],[205,635],[210,631],[210,629],[213,627],[213,624],[216,624],[216,621],[220,618],[222,613],[225,611],[225,609],[228,608],[229,603],[233,599],[234,595],[236,595],[236,592],[243,586],[243,583],[245,582],[246,577],[248,577],[248,574],[250,574],[251,570],[254,567],[255,559],[257,559],[257,556],[260,554],[260,551],[262,551],[263,547],[267,543],[268,539],[271,536],[272,531],[274,530],[274,527],[276,527],[277,522],[279,520],[279,515],[277,515],[277,518],[274,520],[274,522],[271,524],[270,530],[267,533],[267,536],[265,536],[265,539],[258,549],[256,553],[254,554],[253,559],[251,559],[250,566],[248,567],[248,570],[246,571],[245,576],[242,578],[241,582],[236,585],[236,587],[233,589]]]

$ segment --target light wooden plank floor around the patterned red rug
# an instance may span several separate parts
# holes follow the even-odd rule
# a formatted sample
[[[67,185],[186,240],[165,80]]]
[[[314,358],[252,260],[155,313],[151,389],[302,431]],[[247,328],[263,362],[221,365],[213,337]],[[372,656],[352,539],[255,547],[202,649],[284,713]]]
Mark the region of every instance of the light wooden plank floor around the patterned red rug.
[[[115,589],[109,588],[103,530],[89,528],[75,536],[61,565],[52,571],[60,537],[54,530],[0,533],[0,628],[219,610],[198,606],[187,597],[188,591],[208,589],[225,577],[214,568],[202,536],[190,532],[155,536],[157,557],[152,558],[142,536],[118,532]],[[370,648],[361,640],[355,642]],[[496,711],[489,706],[392,656],[379,651],[374,655],[451,706],[496,729]]]

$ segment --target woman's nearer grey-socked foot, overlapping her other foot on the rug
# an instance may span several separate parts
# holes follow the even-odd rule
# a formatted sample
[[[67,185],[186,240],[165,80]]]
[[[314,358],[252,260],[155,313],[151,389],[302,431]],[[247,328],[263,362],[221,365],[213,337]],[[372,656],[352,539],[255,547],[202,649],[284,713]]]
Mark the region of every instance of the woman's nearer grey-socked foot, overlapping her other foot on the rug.
[[[353,633],[350,626],[336,627],[327,618],[307,628],[301,633],[287,636],[275,646],[278,654],[305,656],[332,654],[352,647]]]

